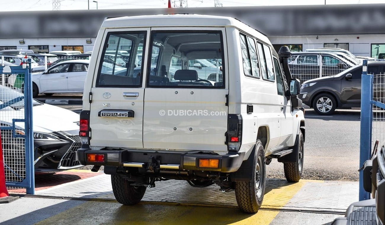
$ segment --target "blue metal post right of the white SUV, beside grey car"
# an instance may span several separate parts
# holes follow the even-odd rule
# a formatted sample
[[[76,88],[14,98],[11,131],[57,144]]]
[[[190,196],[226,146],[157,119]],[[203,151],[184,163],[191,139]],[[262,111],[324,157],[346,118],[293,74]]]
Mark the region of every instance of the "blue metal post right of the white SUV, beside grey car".
[[[361,168],[366,160],[370,158],[372,140],[372,95],[373,75],[368,75],[368,60],[362,62],[361,75],[361,129],[360,129],[360,165]],[[360,170],[360,193],[359,200],[370,199],[370,194],[363,188],[363,170]]]

